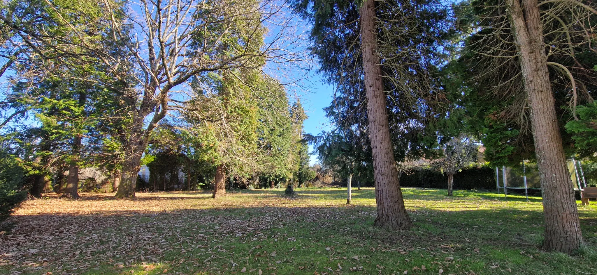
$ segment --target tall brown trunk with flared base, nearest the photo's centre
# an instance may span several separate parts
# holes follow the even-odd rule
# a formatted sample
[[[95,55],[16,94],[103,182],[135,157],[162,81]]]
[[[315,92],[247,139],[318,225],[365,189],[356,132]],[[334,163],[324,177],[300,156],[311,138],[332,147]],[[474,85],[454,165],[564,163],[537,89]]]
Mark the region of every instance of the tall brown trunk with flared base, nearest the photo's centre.
[[[376,2],[365,0],[359,10],[361,17],[361,50],[364,65],[367,117],[373,152],[373,176],[377,202],[375,225],[387,230],[413,226],[404,207],[388,126],[386,95],[383,91],[381,68],[376,56]]]

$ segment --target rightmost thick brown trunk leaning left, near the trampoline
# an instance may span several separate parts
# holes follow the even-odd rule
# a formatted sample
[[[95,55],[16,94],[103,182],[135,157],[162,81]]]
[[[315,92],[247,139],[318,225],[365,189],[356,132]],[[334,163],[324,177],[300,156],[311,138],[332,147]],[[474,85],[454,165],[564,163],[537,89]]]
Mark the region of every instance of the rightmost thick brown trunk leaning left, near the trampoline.
[[[543,248],[571,254],[580,248],[583,239],[549,81],[538,3],[507,0],[507,8],[532,110],[531,125],[543,190]]]

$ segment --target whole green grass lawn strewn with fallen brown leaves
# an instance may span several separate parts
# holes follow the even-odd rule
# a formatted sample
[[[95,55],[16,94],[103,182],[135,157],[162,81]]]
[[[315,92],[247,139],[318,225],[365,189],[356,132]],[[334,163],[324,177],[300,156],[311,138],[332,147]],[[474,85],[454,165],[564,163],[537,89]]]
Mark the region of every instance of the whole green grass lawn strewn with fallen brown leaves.
[[[579,206],[587,247],[571,257],[538,249],[541,198],[402,190],[415,227],[398,232],[373,226],[373,188],[353,205],[346,188],[26,201],[0,274],[597,274],[595,205]]]

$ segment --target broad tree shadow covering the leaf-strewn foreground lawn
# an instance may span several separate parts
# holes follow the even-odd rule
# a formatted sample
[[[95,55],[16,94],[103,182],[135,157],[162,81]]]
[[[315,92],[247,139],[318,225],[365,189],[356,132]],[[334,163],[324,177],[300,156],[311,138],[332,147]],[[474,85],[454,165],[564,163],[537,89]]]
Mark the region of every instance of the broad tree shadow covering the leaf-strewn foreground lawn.
[[[73,201],[72,207],[76,207],[76,203]],[[346,249],[353,250],[362,248],[364,252],[360,253],[367,253],[371,257],[376,257],[376,249],[401,249],[408,254],[404,257],[411,260],[413,257],[418,258],[418,254],[433,252],[440,258],[472,254],[484,257],[485,260],[481,261],[495,262],[498,260],[491,258],[494,257],[491,251],[513,251],[512,255],[522,257],[520,250],[536,250],[537,239],[543,233],[543,213],[540,210],[502,207],[487,207],[483,210],[425,206],[409,208],[415,227],[396,232],[374,227],[376,208],[362,205],[271,207],[254,204],[251,207],[239,205],[164,212],[109,210],[91,214],[47,212],[18,215],[11,218],[15,224],[11,234],[0,237],[0,260],[39,262],[40,259],[46,259],[50,265],[42,270],[32,269],[36,274],[44,273],[45,270],[56,271],[58,266],[64,266],[65,272],[74,267],[85,270],[85,267],[81,269],[80,266],[87,261],[84,260],[86,257],[102,265],[103,269],[97,272],[90,268],[93,266],[87,267],[92,274],[122,273],[129,267],[119,269],[115,265],[129,258],[136,264],[143,261],[167,264],[174,260],[189,260],[193,262],[192,266],[207,268],[207,264],[202,262],[205,257],[197,259],[188,252],[182,252],[180,243],[186,244],[187,249],[191,244],[196,249],[212,248],[215,254],[222,249],[232,249],[230,245],[235,245],[242,249],[232,251],[238,254],[234,257],[253,259],[259,257],[255,254],[261,250],[289,254],[288,251],[299,246],[298,240],[315,246],[313,254],[307,254],[307,258],[316,257],[318,250],[333,257],[334,249],[346,246]],[[584,215],[581,224],[583,229],[587,229],[597,217],[593,212]],[[281,236],[278,242],[270,242],[273,237],[263,239],[264,235],[271,236],[273,233]],[[343,239],[333,239],[332,235]],[[356,244],[361,244],[360,248]],[[257,245],[264,248],[256,249]],[[595,243],[590,245],[593,247]],[[255,252],[251,252],[251,247]],[[325,247],[332,249],[328,253]],[[31,249],[39,251],[30,252]],[[479,249],[481,252],[477,252]],[[141,255],[145,260],[141,260]],[[232,257],[232,254],[228,252],[220,257]],[[282,257],[287,256],[284,254]],[[543,261],[525,259],[538,261],[537,264]],[[367,265],[365,262],[362,264]],[[28,267],[23,265],[23,268]]]

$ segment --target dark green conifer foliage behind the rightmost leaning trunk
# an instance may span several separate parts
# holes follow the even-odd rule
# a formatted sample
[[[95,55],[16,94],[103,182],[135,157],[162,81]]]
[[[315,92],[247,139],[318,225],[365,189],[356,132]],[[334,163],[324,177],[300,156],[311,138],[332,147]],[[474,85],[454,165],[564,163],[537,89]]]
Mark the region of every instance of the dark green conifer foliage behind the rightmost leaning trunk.
[[[545,11],[552,6],[541,5],[540,8]],[[498,166],[533,161],[530,106],[523,89],[521,67],[505,16],[505,5],[495,0],[465,1],[456,7],[456,14],[458,29],[463,31],[461,35],[466,35],[466,39],[463,50],[458,53],[460,57],[444,67],[444,87],[451,96],[460,98],[458,105],[466,110],[468,117],[464,124],[469,132],[481,137],[487,148],[487,161]],[[574,26],[574,32],[581,30],[580,25],[586,22],[576,21],[576,17],[566,10],[559,11],[557,16],[558,20],[553,17],[544,21],[545,41],[554,49],[547,61],[567,67],[577,83],[576,104],[590,104],[597,89],[597,74],[592,70],[597,55],[578,33],[571,36],[570,45],[564,43],[567,39],[561,39],[565,36],[563,22]],[[549,65],[548,69],[564,150],[567,155],[572,155],[576,147],[574,143],[578,141],[564,127],[574,119],[570,79],[558,66]],[[580,115],[580,108],[576,112]]]

